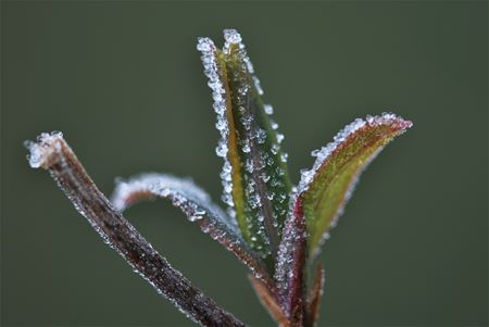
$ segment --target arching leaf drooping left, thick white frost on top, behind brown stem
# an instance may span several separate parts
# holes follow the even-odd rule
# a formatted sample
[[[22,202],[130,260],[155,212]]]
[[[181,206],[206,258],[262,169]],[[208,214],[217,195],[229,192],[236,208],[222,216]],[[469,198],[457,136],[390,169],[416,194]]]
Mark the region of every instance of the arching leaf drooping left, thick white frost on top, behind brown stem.
[[[154,198],[172,200],[190,222],[197,223],[202,231],[233,252],[256,278],[272,285],[265,264],[242,239],[236,224],[190,179],[163,174],[143,174],[128,180],[120,180],[112,203],[117,210],[124,211],[136,202]]]

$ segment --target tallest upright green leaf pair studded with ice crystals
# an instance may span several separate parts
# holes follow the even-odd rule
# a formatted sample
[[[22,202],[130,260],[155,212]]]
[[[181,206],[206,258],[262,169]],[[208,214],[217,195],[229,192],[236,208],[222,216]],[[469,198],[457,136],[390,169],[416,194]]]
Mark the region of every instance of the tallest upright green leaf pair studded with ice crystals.
[[[261,100],[263,90],[240,35],[227,29],[224,36],[222,50],[208,38],[198,43],[222,136],[216,152],[225,160],[223,200],[243,238],[269,259],[278,246],[290,191],[284,136],[269,117],[272,106]]]

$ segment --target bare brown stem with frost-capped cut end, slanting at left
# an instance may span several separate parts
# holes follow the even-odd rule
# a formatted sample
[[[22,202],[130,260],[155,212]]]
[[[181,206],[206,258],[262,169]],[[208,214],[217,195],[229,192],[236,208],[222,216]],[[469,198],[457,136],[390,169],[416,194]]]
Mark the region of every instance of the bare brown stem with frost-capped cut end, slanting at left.
[[[48,169],[78,212],[102,239],[159,293],[203,326],[244,326],[160,255],[99,191],[60,133],[42,134],[28,142],[32,167]]]

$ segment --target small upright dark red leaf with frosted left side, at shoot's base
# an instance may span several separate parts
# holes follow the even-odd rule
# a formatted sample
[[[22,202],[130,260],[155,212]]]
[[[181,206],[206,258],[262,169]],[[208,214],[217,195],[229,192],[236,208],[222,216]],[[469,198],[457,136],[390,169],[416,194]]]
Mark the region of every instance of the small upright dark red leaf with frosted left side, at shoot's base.
[[[306,319],[304,312],[306,255],[305,218],[302,203],[297,202],[284,227],[275,268],[277,294],[290,326],[303,326]]]

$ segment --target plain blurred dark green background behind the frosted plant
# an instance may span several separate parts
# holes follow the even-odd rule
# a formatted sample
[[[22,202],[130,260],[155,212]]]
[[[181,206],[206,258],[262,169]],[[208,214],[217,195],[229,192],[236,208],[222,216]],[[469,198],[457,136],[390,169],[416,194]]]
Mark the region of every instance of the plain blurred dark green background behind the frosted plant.
[[[63,130],[108,194],[116,176],[221,159],[197,36],[238,28],[286,135],[293,181],[359,116],[414,122],[363,175],[321,256],[321,326],[488,323],[488,3],[2,1],[1,324],[189,326],[25,161]],[[225,309],[271,326],[247,269],[166,202],[128,218]]]

